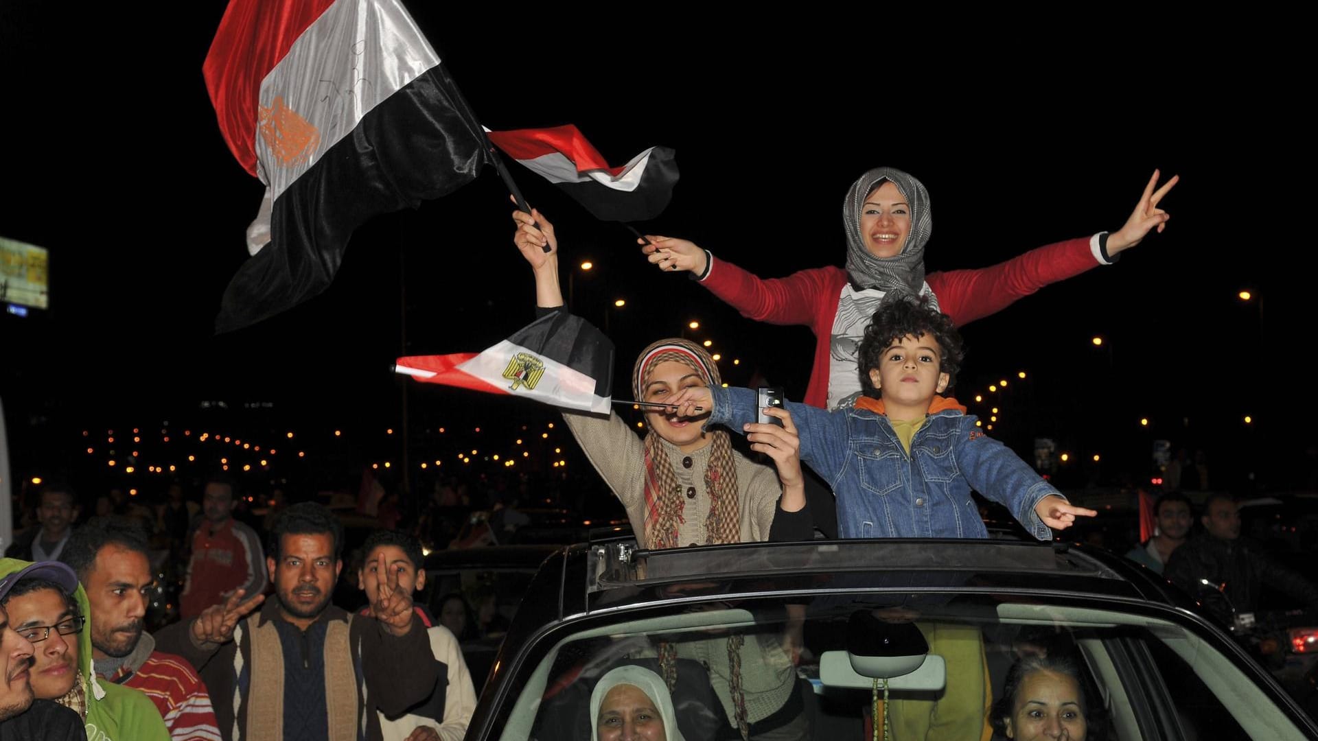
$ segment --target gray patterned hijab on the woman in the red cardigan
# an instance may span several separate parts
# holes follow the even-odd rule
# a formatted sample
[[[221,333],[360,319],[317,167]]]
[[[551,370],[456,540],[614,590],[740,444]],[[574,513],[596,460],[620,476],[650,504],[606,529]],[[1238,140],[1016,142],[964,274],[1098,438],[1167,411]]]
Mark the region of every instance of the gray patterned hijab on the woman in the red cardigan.
[[[892,182],[911,206],[911,233],[902,252],[892,257],[875,257],[861,237],[861,212],[865,199],[884,181]],[[920,295],[924,287],[924,245],[929,243],[933,219],[929,216],[929,193],[924,183],[894,167],[875,167],[861,175],[842,203],[842,225],[846,228],[846,273],[862,289],[879,289],[884,298]],[[937,299],[929,294],[932,309]]]

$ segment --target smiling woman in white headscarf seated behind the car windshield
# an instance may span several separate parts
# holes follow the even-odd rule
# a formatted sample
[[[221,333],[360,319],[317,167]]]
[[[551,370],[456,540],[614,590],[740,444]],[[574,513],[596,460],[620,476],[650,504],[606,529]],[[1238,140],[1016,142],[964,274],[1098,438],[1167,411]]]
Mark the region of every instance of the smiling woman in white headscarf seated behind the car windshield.
[[[684,741],[672,696],[658,674],[619,666],[590,692],[590,736],[594,741]]]

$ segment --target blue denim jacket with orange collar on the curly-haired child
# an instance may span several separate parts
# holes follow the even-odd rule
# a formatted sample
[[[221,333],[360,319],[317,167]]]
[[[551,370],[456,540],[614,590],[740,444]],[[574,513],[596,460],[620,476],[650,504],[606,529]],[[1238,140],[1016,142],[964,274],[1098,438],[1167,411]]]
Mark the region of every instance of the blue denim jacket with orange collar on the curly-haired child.
[[[745,434],[742,426],[755,422],[755,392],[709,390],[714,409],[708,423]],[[888,418],[871,409],[786,407],[800,434],[801,460],[833,488],[842,538],[987,538],[970,489],[1006,505],[1040,541],[1053,537],[1035,505],[1061,493],[975,427],[954,401],[932,409],[909,455]]]

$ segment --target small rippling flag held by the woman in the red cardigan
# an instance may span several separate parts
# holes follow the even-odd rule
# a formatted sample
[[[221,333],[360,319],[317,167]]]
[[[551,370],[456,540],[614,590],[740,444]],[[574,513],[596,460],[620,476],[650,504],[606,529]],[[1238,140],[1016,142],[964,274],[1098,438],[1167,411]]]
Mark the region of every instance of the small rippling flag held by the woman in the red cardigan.
[[[654,219],[668,206],[677,185],[677,161],[667,146],[651,146],[613,167],[572,124],[488,134],[494,146],[558,185],[604,222]]]

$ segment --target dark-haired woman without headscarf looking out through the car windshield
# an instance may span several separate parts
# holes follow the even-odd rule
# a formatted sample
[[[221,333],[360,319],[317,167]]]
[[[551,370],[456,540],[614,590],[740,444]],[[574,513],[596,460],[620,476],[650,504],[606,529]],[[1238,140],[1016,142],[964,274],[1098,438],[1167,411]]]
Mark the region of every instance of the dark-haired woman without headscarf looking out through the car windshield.
[[[1007,671],[990,723],[995,740],[1104,741],[1103,717],[1074,661],[1031,654]]]

